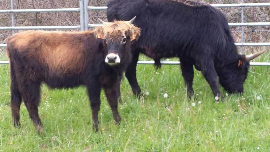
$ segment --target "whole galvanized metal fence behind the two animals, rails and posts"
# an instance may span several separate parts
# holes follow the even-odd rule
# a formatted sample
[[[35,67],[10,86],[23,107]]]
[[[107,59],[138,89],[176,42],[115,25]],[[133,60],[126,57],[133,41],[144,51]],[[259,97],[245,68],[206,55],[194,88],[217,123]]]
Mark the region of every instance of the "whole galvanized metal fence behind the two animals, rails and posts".
[[[11,10],[0,10],[0,13],[11,13],[12,26],[0,27],[0,30],[4,29],[81,29],[82,31],[88,30],[95,26],[102,26],[101,24],[89,24],[90,10],[106,10],[106,6],[88,6],[88,0],[79,0],[79,8],[66,8],[66,9],[24,9],[13,10],[12,0]],[[267,3],[244,3],[241,0],[239,4],[211,4],[211,6],[225,8],[225,7],[241,7],[241,23],[228,23],[229,26],[241,26],[241,43],[235,43],[237,46],[241,46],[241,53],[243,53],[244,46],[270,46],[270,42],[259,43],[245,43],[244,42],[244,26],[270,26],[270,22],[244,22],[244,7],[262,7],[270,6],[270,2]],[[83,12],[84,10],[84,12]],[[79,12],[80,13],[80,25],[75,26],[14,26],[13,13],[25,13],[25,12]],[[83,20],[84,19],[84,20]],[[6,47],[6,44],[0,44],[0,47]],[[8,61],[0,61],[0,64],[8,64]],[[138,61],[138,64],[154,64],[154,61]],[[180,64],[179,61],[161,61],[161,64]],[[253,66],[270,66],[270,62],[250,62]]]

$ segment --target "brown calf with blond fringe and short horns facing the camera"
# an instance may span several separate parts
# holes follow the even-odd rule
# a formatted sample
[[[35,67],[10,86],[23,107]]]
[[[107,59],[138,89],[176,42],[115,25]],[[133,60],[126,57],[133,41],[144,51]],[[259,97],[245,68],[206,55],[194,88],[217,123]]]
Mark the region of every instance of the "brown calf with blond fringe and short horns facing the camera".
[[[139,37],[134,21],[103,22],[95,31],[24,31],[7,40],[10,60],[11,111],[20,125],[23,100],[37,131],[43,130],[38,115],[40,85],[50,88],[87,87],[93,128],[98,131],[100,91],[103,88],[116,123],[118,88],[123,71],[132,60],[131,41]],[[103,40],[104,39],[104,40]]]

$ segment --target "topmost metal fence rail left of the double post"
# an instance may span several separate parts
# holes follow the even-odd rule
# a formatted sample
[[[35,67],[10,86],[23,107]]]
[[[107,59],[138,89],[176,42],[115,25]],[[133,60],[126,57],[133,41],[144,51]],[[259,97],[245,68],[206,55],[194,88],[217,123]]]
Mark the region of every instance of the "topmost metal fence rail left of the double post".
[[[15,10],[0,10],[0,13],[79,12],[79,11],[80,8],[15,9]]]

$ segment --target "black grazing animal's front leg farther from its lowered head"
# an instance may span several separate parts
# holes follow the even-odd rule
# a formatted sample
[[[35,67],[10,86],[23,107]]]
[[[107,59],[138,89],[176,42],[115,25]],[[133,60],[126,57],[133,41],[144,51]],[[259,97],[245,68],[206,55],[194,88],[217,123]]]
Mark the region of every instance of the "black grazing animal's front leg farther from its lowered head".
[[[192,97],[194,94],[194,90],[192,88],[193,84],[193,77],[194,77],[194,70],[193,70],[193,64],[186,61],[183,58],[180,58],[180,65],[182,70],[182,75],[185,80],[185,84],[187,87],[187,95],[189,98]]]

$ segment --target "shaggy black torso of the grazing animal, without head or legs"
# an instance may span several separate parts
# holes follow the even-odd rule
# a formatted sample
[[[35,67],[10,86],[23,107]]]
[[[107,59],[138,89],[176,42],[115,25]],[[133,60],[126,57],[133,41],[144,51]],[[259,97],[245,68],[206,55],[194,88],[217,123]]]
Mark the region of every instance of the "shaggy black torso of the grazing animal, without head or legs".
[[[198,49],[212,46],[225,49],[229,30],[227,20],[212,6],[198,2],[170,0],[111,0],[107,18],[129,20],[141,28],[137,45],[147,56],[160,59],[198,54]],[[230,37],[230,32],[229,37]],[[231,41],[231,40],[230,40]]]

